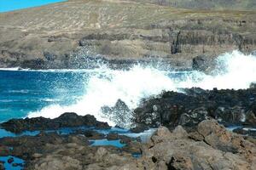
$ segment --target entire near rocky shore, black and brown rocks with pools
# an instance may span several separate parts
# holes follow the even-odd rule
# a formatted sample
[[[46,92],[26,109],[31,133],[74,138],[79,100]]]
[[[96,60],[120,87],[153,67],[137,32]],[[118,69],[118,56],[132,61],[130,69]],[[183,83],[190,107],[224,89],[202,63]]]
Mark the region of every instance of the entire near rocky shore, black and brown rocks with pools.
[[[38,133],[1,138],[0,157],[19,157],[25,169],[41,170],[254,169],[256,88],[182,90],[145,99],[134,111],[136,127],[126,131],[75,113],[3,122],[1,128],[12,133]],[[60,133],[63,127],[79,128]],[[139,134],[152,127],[155,132],[142,141]]]

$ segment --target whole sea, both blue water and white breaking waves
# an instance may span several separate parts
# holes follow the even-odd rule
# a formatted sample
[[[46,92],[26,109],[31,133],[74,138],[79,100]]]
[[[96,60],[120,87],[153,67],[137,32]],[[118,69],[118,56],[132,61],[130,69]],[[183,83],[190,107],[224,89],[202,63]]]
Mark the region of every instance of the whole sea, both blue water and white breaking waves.
[[[142,99],[162,91],[182,92],[182,88],[192,87],[241,89],[256,82],[253,55],[233,51],[218,56],[217,63],[218,69],[210,75],[141,65],[129,70],[112,70],[106,65],[91,70],[0,69],[0,122],[26,116],[54,118],[72,111],[115,125],[119,122],[104,115],[102,106],[113,106],[118,99],[132,110]]]

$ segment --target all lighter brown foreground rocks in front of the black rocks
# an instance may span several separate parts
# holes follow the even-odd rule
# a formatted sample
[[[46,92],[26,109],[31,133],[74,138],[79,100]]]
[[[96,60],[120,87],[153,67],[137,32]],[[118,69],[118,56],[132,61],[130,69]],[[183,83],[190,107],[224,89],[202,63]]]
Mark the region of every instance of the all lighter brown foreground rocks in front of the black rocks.
[[[116,138],[114,138],[116,139]],[[255,169],[256,143],[227,131],[213,120],[192,131],[159,127],[148,143],[130,141],[124,148],[90,146],[79,133],[41,133],[0,139],[0,156],[20,156],[25,169]],[[9,150],[9,147],[13,147]],[[137,152],[140,156],[134,157]]]

